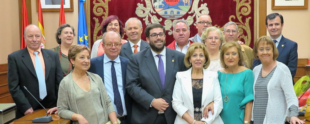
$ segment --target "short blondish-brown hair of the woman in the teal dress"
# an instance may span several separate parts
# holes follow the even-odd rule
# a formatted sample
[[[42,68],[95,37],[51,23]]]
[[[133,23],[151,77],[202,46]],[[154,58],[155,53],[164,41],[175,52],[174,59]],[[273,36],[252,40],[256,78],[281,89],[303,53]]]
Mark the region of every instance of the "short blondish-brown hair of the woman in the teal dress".
[[[242,55],[242,51],[241,51],[241,45],[238,44],[237,42],[226,42],[225,44],[223,44],[221,52],[220,52],[220,60],[221,60],[221,64],[223,68],[227,68],[228,66],[225,64],[224,62],[224,53],[225,51],[227,51],[229,48],[231,47],[236,47],[237,51],[238,51],[238,55],[239,55],[239,62],[238,64],[243,66],[243,55]]]

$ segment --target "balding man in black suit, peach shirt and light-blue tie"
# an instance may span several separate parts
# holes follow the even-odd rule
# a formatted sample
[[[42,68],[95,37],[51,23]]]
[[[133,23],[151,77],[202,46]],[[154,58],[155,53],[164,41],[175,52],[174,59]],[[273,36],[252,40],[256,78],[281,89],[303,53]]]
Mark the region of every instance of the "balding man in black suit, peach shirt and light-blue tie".
[[[60,81],[64,78],[59,55],[40,48],[42,33],[38,26],[28,25],[24,39],[27,47],[11,53],[7,58],[8,86],[17,107],[16,118],[42,109],[24,86],[45,108],[53,108],[56,107]]]

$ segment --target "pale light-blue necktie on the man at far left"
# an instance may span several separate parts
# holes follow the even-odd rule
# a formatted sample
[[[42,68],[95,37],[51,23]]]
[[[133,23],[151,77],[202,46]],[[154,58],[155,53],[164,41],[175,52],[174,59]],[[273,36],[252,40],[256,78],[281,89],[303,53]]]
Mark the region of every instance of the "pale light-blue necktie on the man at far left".
[[[36,65],[36,73],[39,81],[40,99],[43,100],[47,95],[47,92],[46,92],[45,77],[42,69],[42,64],[38,56],[38,53],[39,53],[38,51],[33,52],[33,54],[36,55],[36,57],[34,58],[34,62]]]

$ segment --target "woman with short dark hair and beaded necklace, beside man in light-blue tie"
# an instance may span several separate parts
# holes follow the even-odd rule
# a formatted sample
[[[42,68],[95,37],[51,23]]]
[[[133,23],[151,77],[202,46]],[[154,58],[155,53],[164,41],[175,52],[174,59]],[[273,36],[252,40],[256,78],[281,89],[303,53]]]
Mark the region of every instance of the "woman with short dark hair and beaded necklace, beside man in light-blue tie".
[[[55,34],[58,46],[50,49],[59,54],[60,65],[64,77],[72,71],[71,63],[68,60],[68,51],[73,43],[74,36],[75,33],[72,26],[70,26],[69,24],[61,25],[57,29]]]

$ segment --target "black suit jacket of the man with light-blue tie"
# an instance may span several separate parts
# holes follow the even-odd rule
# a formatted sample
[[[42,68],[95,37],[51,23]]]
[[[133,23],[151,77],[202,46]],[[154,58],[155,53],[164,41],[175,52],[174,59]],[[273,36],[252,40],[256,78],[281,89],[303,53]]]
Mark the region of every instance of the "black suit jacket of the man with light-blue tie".
[[[45,108],[56,107],[58,88],[64,78],[59,55],[51,50],[41,49],[45,63],[45,84],[47,96],[40,101]],[[16,104],[16,118],[24,116],[29,109],[42,109],[41,105],[24,89],[24,86],[39,101],[39,82],[27,47],[8,55],[7,81],[10,93]]]

